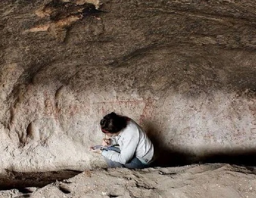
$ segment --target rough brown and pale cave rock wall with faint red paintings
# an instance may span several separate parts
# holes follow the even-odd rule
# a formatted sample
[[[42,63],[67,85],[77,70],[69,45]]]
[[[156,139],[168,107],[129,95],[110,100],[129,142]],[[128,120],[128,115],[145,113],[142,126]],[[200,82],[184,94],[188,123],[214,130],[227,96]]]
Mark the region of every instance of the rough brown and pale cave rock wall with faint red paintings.
[[[0,16],[3,174],[103,167],[87,148],[111,111],[166,165],[255,156],[255,1],[2,0]]]

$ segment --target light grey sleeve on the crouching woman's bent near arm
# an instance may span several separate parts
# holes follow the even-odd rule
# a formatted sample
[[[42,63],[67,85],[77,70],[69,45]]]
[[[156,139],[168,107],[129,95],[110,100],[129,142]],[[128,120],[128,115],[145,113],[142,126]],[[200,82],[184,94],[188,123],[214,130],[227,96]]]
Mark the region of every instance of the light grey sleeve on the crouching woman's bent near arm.
[[[121,153],[115,151],[103,151],[102,155],[111,161],[126,164],[133,158],[138,143],[139,132],[136,131],[136,133],[132,134],[128,133],[128,135],[123,139],[123,149],[121,150]]]

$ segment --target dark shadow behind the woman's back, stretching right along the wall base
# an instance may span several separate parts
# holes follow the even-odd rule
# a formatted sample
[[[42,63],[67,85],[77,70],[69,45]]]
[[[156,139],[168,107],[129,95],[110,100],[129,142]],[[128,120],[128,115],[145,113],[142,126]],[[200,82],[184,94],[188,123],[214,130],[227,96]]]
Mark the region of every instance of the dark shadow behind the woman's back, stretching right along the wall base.
[[[152,140],[157,159],[154,166],[173,167],[189,164],[203,163],[227,163],[240,166],[255,166],[256,167],[256,147],[255,149],[240,150],[220,150],[219,152],[208,152],[201,156],[195,156],[189,151],[180,151],[179,148],[169,149],[163,146],[162,140],[165,139],[164,134],[160,133],[160,128],[151,120],[144,120],[144,126],[148,137]],[[158,125],[161,126],[161,125]],[[157,134],[157,135],[155,135]],[[203,153],[204,151],[202,151]]]

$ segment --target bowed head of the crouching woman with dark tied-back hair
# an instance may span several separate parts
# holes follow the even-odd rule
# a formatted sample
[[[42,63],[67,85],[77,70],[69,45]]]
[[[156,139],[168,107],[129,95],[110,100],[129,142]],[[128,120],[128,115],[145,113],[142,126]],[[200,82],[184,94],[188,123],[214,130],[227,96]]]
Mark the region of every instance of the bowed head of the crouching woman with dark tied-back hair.
[[[105,115],[103,119],[100,120],[101,131],[107,136],[117,136],[126,125],[126,118],[114,112]]]

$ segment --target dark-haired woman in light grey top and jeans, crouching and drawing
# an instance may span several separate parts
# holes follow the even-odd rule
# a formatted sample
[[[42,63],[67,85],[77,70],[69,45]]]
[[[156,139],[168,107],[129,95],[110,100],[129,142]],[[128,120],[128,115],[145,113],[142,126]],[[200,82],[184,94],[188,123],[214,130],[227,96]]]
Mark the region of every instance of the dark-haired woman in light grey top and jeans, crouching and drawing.
[[[100,121],[105,147],[101,155],[109,167],[147,168],[153,162],[154,146],[144,130],[131,118],[112,112]]]

